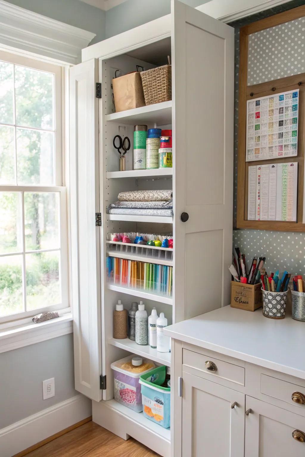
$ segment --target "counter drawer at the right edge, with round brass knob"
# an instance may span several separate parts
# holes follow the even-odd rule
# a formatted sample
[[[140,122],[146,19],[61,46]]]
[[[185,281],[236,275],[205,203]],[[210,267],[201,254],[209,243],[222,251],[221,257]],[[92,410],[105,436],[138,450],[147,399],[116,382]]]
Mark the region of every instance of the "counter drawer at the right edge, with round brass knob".
[[[299,414],[301,413],[301,410],[303,410],[303,412],[305,413],[305,388],[302,386],[298,386],[297,384],[293,383],[288,383],[287,381],[283,381],[282,379],[278,379],[276,377],[268,376],[262,373],[261,393],[264,393],[269,397],[282,400],[299,408]],[[304,404],[302,404],[303,401]]]

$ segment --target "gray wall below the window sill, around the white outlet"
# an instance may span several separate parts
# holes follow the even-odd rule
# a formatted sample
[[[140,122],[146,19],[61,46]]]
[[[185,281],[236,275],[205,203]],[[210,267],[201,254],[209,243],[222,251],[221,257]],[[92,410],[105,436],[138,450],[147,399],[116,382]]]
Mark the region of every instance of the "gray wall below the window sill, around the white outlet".
[[[42,383],[50,377],[55,397],[43,400]],[[77,394],[73,334],[0,354],[0,429]]]

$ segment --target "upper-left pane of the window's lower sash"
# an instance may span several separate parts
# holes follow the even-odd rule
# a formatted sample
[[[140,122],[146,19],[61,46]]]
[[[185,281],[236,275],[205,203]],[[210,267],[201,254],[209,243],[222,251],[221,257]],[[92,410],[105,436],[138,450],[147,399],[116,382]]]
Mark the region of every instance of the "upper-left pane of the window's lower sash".
[[[22,252],[21,194],[0,192],[0,254]]]

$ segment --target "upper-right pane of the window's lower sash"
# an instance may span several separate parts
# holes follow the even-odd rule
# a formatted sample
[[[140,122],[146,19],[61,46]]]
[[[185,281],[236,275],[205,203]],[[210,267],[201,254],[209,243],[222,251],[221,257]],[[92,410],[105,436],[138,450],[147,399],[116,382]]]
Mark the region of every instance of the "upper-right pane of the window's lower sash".
[[[59,192],[25,192],[26,250],[59,248]]]

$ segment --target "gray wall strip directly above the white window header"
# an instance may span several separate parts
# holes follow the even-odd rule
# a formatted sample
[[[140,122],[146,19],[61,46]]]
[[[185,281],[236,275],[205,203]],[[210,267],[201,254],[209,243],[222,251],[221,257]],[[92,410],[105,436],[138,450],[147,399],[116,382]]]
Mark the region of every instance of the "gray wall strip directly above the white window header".
[[[96,33],[91,44],[105,38],[105,11],[79,0],[6,0],[26,10]]]

